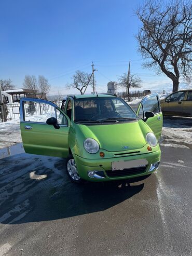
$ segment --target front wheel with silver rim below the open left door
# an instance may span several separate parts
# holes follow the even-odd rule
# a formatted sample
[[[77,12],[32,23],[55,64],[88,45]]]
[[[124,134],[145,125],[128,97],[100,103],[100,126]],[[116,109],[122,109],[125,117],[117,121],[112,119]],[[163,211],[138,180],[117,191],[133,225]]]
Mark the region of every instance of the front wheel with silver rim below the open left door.
[[[83,183],[83,179],[79,177],[77,167],[73,155],[69,155],[66,159],[66,174],[71,181],[75,183]]]

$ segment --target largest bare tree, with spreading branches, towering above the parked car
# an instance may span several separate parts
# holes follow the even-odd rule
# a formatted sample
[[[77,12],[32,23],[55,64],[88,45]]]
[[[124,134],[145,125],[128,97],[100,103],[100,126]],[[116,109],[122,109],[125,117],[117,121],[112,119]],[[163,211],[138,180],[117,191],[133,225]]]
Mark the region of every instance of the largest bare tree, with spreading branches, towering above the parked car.
[[[182,75],[190,80],[192,60],[192,5],[190,1],[148,0],[136,10],[142,22],[135,36],[146,68],[166,74],[179,89]]]

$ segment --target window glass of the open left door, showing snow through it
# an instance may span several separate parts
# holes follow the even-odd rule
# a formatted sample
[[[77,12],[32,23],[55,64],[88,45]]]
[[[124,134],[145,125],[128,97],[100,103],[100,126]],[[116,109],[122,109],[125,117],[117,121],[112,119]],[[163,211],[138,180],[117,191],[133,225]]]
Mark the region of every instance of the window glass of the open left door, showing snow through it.
[[[55,107],[35,101],[24,101],[23,102],[24,121],[46,123],[49,117],[56,117]]]

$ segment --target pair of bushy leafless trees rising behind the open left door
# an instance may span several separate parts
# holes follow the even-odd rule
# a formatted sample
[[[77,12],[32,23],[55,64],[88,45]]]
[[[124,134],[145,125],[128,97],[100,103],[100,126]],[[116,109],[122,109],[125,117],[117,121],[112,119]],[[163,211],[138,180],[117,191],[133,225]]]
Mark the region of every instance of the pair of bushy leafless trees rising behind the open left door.
[[[33,92],[34,98],[46,98],[46,93],[50,90],[48,79],[45,76],[39,75],[38,79],[32,75],[26,75],[23,82],[25,89],[30,89]]]

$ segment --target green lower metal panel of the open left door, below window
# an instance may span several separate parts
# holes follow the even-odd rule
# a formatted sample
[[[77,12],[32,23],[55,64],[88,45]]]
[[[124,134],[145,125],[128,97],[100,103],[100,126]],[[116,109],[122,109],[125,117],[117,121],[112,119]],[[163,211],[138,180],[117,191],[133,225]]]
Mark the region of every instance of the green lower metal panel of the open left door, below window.
[[[31,129],[25,129],[31,126]],[[67,157],[68,130],[67,126],[55,129],[52,125],[21,122],[21,137],[26,153]]]

